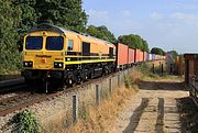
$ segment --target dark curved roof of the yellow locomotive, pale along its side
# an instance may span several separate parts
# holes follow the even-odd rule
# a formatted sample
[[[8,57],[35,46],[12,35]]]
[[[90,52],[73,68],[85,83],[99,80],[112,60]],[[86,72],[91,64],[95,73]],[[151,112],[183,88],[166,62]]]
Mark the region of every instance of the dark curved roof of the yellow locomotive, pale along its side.
[[[31,30],[29,30],[28,33],[32,33],[32,32],[36,32],[36,31],[53,31],[53,32],[57,32],[57,33],[61,33],[61,34],[73,33],[73,34],[76,34],[76,35],[82,35],[82,36],[86,36],[86,37],[90,37],[92,40],[102,41],[106,44],[112,44],[112,43],[110,43],[108,41],[103,41],[103,40],[90,36],[87,33],[80,33],[78,31],[69,31],[69,30],[66,30],[64,27],[52,25],[52,24],[48,24],[48,23],[38,24],[38,25],[32,27]]]

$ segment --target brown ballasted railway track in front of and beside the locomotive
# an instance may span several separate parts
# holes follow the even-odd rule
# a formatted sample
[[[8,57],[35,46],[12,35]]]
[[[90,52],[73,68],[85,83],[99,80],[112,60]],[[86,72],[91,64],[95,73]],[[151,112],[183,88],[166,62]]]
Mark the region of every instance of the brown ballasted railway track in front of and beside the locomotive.
[[[111,74],[108,76],[103,76],[103,77],[100,77],[97,79],[90,79],[81,85],[76,85],[74,87],[66,88],[62,91],[56,91],[56,92],[52,92],[52,93],[19,91],[11,97],[1,98],[1,96],[0,96],[0,117],[12,113],[16,110],[21,110],[26,107],[33,106],[34,103],[40,103],[40,102],[43,102],[46,100],[51,100],[63,93],[67,93],[67,92],[77,90],[78,88],[81,88],[82,86],[87,86],[89,84],[95,84],[95,82],[101,81],[103,78],[108,78],[108,77],[111,77],[114,75],[118,75],[118,73]]]

